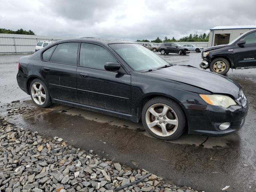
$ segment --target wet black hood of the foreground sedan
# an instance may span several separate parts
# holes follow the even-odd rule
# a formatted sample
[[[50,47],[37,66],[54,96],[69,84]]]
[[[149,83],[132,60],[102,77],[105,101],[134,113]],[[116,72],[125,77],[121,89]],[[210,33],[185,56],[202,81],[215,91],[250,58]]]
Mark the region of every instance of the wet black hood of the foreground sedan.
[[[159,70],[147,72],[149,76],[166,78],[186,83],[212,93],[229,94],[238,98],[241,86],[225,76],[200,70],[195,67],[174,65]]]

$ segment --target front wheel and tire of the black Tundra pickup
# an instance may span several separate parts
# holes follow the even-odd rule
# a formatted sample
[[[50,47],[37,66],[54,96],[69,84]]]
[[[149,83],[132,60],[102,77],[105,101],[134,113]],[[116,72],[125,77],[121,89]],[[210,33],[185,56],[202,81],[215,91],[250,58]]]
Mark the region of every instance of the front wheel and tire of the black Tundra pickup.
[[[212,60],[209,68],[211,72],[214,72],[220,75],[225,75],[230,68],[230,64],[228,60],[224,58],[216,58]]]

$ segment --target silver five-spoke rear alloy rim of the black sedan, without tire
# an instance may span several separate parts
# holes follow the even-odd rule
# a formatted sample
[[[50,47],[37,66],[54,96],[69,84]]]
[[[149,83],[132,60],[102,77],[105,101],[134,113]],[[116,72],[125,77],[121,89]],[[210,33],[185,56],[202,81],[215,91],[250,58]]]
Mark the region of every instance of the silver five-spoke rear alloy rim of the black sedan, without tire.
[[[31,86],[31,95],[34,102],[38,105],[43,105],[46,101],[46,93],[42,84],[34,82]]]

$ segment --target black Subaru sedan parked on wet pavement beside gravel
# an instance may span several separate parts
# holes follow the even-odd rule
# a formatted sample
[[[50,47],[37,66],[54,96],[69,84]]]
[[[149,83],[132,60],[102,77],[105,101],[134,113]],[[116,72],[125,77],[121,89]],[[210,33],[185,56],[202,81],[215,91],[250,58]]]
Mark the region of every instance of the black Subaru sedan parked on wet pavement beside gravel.
[[[232,133],[243,126],[248,111],[237,82],[170,65],[134,42],[62,40],[21,57],[18,68],[18,85],[38,107],[58,103],[142,121],[163,140],[175,140],[185,130]]]

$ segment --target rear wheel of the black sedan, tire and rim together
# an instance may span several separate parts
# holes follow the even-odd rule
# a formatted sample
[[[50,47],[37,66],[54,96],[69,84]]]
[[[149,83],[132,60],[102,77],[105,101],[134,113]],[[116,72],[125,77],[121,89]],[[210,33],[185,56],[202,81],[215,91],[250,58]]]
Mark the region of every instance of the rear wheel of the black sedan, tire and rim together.
[[[40,79],[34,79],[30,83],[30,96],[34,104],[40,108],[52,105],[52,100],[46,84]]]

